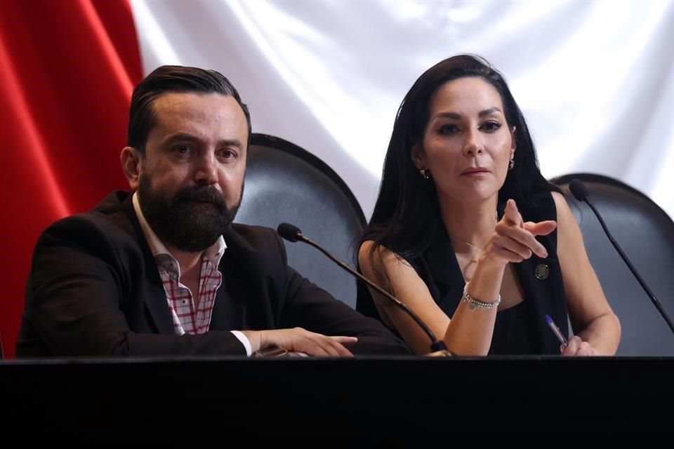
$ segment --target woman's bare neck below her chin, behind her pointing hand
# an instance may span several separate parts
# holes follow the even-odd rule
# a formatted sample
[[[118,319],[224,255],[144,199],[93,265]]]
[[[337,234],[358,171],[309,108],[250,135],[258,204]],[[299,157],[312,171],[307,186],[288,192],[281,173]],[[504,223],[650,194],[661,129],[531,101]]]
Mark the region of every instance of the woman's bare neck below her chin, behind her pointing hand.
[[[456,253],[482,249],[496,227],[496,195],[480,202],[440,200],[442,222]]]

